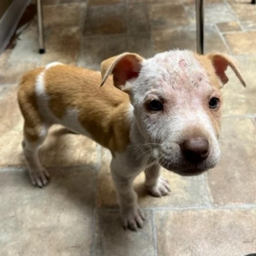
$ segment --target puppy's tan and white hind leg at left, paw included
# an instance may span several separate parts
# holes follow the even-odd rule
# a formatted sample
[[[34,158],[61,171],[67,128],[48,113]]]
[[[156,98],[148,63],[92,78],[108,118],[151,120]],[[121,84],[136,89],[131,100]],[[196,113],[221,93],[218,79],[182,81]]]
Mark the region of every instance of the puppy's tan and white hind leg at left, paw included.
[[[37,128],[24,126],[23,152],[28,164],[31,181],[35,187],[43,188],[49,180],[49,173],[43,167],[38,157],[39,147],[44,142],[49,127],[40,125]]]

